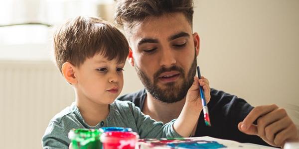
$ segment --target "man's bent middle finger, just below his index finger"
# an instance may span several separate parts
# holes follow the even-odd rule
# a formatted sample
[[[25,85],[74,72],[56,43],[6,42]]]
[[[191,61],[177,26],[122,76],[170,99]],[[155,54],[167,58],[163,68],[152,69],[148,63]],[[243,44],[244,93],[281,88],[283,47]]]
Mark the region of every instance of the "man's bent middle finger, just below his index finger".
[[[272,123],[275,123],[276,121],[283,119],[287,116],[287,112],[285,109],[278,108],[274,109],[273,111],[265,114],[263,117],[260,117],[258,119],[258,134],[260,137],[265,137],[267,134],[266,127]],[[287,126],[286,126],[287,127]],[[273,139],[271,140],[273,141]]]

